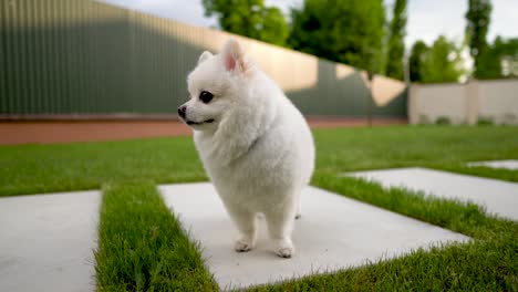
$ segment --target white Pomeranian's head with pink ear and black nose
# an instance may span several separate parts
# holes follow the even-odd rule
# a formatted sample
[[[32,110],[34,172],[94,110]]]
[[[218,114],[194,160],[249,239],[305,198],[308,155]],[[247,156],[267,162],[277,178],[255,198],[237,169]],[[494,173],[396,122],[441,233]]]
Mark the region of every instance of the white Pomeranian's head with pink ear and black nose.
[[[179,117],[197,131],[215,131],[247,95],[251,69],[241,48],[229,40],[222,51],[205,51],[187,77],[190,100],[178,107]]]

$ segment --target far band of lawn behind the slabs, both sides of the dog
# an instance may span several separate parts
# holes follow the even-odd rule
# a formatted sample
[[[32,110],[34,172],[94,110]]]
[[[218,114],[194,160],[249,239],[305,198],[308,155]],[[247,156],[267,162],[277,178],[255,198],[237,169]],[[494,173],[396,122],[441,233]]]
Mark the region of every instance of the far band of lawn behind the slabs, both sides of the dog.
[[[464,166],[518,159],[518,127],[321,129],[314,137],[319,173],[426,166],[518,181],[517,170]],[[162,184],[207,178],[190,137],[0,147],[0,196],[96,189],[134,179]]]

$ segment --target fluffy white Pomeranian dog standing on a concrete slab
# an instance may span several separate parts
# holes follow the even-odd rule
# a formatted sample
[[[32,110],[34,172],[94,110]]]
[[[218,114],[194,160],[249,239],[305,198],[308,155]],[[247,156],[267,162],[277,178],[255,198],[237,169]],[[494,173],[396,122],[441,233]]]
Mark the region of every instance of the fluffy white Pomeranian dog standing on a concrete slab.
[[[205,170],[240,232],[236,251],[253,249],[262,213],[274,252],[290,258],[300,194],[314,167],[304,117],[235,40],[219,54],[204,52],[187,83],[190,100],[178,115],[194,129]]]

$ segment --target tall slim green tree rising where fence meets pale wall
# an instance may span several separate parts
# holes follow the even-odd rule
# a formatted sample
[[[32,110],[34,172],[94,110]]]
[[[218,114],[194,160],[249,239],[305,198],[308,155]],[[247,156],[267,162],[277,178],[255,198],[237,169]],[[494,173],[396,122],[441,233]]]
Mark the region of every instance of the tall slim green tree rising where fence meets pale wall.
[[[403,80],[403,55],[405,53],[406,0],[396,0],[390,24],[386,75]]]

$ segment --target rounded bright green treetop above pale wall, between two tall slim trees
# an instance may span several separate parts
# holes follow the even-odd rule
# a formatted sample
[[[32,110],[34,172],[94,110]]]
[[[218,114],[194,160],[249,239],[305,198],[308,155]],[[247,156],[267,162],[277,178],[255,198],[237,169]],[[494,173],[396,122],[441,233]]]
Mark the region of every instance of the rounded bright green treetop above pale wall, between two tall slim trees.
[[[457,82],[466,73],[460,58],[462,48],[441,35],[428,48],[418,41],[410,59],[411,80],[422,83]]]

